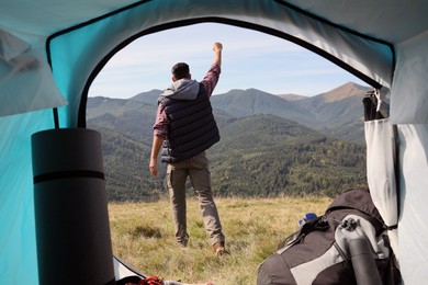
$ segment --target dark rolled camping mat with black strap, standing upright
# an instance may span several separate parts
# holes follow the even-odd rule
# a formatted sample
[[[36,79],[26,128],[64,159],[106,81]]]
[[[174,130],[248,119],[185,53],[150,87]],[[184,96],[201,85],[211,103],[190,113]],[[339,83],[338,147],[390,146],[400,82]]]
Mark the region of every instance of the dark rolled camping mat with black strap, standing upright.
[[[40,284],[115,284],[101,135],[32,136]]]

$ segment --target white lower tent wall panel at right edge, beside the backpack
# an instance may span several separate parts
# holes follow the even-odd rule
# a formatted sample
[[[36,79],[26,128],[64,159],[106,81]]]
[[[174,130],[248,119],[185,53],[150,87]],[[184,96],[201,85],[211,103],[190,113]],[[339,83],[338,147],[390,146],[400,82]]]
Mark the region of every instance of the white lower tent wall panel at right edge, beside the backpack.
[[[398,125],[401,163],[399,260],[405,284],[428,280],[428,125]]]

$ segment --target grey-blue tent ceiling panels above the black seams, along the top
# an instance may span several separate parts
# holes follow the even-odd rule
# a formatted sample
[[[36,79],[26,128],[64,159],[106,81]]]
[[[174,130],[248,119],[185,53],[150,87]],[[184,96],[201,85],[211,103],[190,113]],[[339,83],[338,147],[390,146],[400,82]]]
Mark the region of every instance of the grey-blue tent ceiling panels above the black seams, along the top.
[[[0,29],[14,31],[22,36],[46,36],[129,4],[144,2],[150,1],[2,0]],[[209,1],[199,2],[204,5]],[[234,4],[236,1],[230,0],[217,2],[236,5]],[[401,43],[428,30],[426,16],[428,1],[277,0],[275,2],[290,3],[314,15],[328,19],[329,22],[388,43]],[[22,7],[25,7],[25,10],[22,10]]]

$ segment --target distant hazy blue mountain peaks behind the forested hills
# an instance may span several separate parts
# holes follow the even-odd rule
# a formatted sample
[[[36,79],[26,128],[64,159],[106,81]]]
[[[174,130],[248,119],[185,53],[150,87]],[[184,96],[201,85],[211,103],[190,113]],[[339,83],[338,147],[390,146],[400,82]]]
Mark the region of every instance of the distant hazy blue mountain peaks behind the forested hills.
[[[272,114],[294,121],[327,136],[363,144],[362,100],[371,89],[348,82],[315,96],[275,95],[257,89],[230,90],[212,96],[212,105],[236,117]],[[161,90],[139,93],[131,100],[154,104]]]

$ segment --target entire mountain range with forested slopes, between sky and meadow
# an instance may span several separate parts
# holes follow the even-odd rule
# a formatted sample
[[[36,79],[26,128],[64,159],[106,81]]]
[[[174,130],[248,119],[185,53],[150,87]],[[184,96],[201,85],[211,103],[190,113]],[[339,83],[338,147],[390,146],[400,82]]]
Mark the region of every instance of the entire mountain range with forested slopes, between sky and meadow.
[[[362,99],[367,91],[349,82],[312,98],[256,89],[213,95],[222,136],[209,150],[214,193],[334,195],[343,187],[363,185]],[[87,125],[102,134],[111,201],[156,200],[167,193],[164,169],[160,178],[148,173],[161,92],[151,90],[127,100],[88,99]]]

